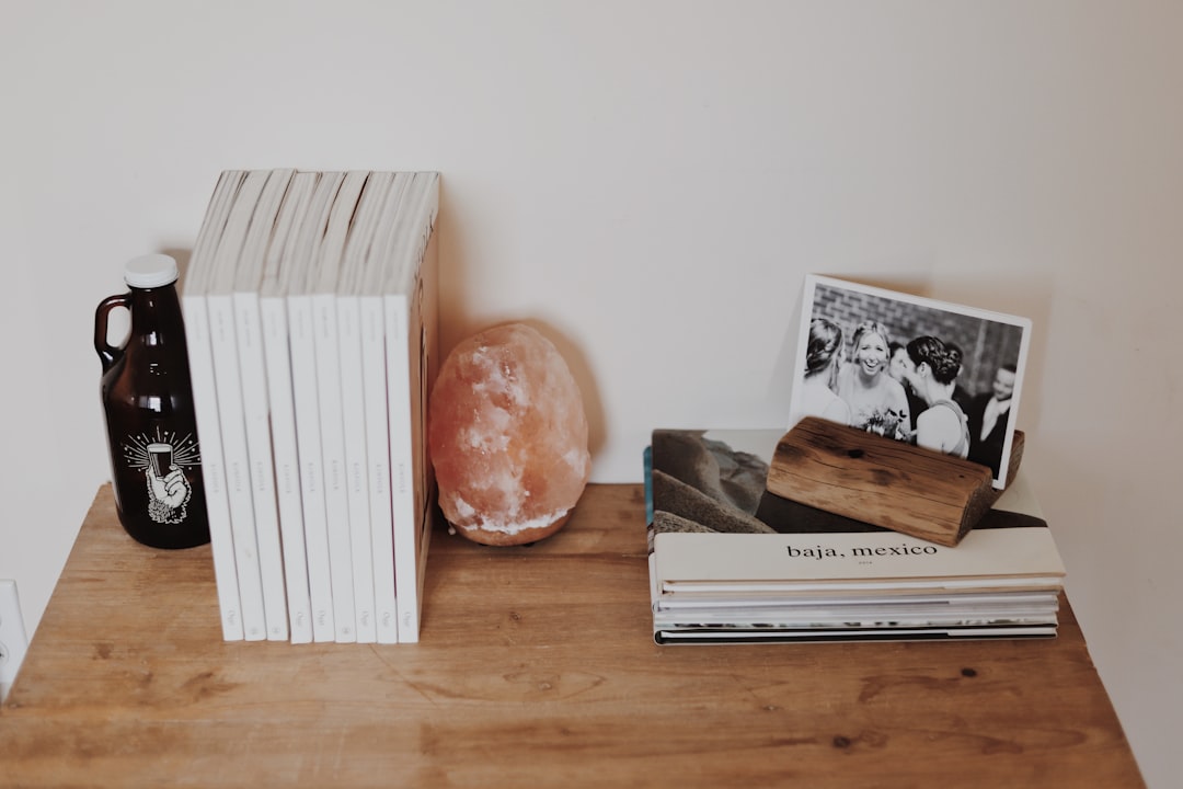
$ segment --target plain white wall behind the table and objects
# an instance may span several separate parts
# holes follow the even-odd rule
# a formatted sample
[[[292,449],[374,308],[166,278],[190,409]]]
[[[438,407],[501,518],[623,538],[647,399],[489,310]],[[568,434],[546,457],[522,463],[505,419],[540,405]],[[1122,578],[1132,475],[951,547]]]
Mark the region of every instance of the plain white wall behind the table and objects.
[[[547,326],[597,481],[657,426],[781,423],[808,271],[1032,317],[1024,468],[1171,784],[1183,5],[2,6],[0,577],[31,627],[108,476],[124,260],[183,256],[224,168],[432,168],[446,344]]]

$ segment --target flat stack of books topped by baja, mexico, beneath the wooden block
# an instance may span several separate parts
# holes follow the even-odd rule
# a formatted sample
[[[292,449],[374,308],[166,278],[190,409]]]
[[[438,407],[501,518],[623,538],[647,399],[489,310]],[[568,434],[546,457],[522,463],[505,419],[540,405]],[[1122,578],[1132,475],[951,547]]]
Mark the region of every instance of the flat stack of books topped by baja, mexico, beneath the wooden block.
[[[784,431],[654,431],[658,644],[1054,636],[1064,564],[1022,471],[956,547],[765,490]]]

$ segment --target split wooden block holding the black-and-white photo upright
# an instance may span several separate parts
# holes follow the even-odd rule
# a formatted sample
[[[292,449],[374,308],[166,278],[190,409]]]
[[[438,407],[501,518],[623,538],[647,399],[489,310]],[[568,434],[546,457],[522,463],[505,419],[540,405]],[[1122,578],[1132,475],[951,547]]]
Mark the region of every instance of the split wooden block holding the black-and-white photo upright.
[[[1013,441],[1008,480],[1022,457]],[[987,466],[807,416],[768,472],[776,496],[875,526],[956,545],[997,500]]]

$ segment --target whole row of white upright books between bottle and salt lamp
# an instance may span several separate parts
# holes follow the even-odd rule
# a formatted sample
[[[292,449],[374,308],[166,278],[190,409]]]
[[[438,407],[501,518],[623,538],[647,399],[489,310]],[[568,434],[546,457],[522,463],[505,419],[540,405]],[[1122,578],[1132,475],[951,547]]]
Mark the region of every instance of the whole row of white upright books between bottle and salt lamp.
[[[227,170],[181,290],[226,640],[418,641],[437,173]]]

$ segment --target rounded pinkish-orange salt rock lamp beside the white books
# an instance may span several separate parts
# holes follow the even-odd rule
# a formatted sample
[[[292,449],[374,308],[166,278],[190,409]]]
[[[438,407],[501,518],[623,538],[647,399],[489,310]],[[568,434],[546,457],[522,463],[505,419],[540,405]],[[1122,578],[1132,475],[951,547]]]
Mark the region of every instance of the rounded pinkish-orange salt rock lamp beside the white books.
[[[486,545],[558,531],[592,471],[578,386],[555,345],[521,323],[452,350],[432,392],[427,440],[444,516]]]

